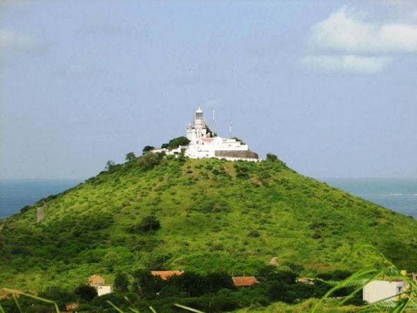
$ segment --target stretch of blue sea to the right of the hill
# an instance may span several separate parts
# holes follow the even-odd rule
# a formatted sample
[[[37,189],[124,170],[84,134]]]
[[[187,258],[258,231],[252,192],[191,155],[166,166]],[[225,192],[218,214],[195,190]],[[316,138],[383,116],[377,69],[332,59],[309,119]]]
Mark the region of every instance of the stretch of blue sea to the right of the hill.
[[[417,219],[417,179],[328,178],[319,180]]]

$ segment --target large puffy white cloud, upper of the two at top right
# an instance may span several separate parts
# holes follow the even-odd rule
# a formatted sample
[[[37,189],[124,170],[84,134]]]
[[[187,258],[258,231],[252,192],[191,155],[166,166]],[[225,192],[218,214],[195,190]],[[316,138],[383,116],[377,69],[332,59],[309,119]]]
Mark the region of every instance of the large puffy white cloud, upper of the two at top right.
[[[417,25],[368,22],[363,13],[341,8],[314,25],[309,47],[350,54],[417,52]]]

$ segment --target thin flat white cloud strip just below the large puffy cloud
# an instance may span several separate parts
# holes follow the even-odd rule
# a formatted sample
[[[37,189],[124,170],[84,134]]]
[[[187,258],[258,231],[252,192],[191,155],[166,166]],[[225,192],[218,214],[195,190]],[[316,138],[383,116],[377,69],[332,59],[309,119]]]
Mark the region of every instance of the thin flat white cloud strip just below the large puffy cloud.
[[[301,64],[318,72],[342,72],[346,74],[376,74],[393,61],[389,56],[305,56]]]

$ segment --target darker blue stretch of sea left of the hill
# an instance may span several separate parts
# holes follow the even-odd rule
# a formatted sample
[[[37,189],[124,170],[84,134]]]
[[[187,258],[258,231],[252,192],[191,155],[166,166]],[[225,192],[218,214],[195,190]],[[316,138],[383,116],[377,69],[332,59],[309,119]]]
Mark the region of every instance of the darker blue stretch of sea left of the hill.
[[[1,179],[0,218],[15,214],[28,204],[65,191],[80,182],[81,179]]]

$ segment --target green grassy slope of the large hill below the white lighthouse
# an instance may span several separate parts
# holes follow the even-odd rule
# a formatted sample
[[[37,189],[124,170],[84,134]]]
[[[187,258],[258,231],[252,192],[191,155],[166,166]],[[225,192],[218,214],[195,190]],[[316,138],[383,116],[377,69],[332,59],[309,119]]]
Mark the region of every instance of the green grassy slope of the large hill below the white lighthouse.
[[[141,230],[147,216],[161,228]],[[272,257],[313,275],[340,268],[362,243],[417,271],[417,222],[409,216],[279,160],[147,154],[0,220],[0,287],[73,289],[93,273],[112,282],[117,271],[138,268],[252,275]]]

